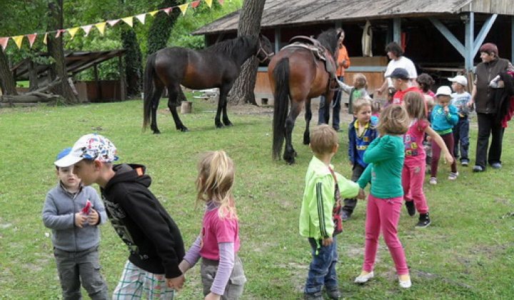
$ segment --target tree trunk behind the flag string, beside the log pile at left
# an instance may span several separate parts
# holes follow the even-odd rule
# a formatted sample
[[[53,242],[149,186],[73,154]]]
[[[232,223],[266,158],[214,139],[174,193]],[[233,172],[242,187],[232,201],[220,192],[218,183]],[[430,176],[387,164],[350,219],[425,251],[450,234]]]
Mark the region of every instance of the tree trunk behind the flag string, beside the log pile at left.
[[[49,4],[49,31],[54,31],[63,28],[63,1],[56,0]],[[51,57],[54,58],[55,63],[52,64],[51,69],[53,74],[59,76],[61,84],[56,86],[56,94],[63,96],[65,104],[77,104],[79,99],[74,94],[73,89],[68,82],[68,71],[66,69],[66,61],[64,61],[64,46],[62,41],[62,34],[56,38],[53,34],[48,36],[48,51]]]

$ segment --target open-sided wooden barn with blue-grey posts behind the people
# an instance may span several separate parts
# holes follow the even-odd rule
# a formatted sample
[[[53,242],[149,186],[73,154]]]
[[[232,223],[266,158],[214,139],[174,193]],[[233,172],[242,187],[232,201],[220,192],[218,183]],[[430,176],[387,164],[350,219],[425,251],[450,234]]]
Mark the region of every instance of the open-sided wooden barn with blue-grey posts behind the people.
[[[224,16],[193,32],[206,43],[236,37],[240,11]],[[368,90],[383,82],[388,64],[384,51],[397,41],[412,59],[418,74],[428,73],[437,85],[449,84],[456,74],[471,76],[480,62],[480,45],[498,45],[500,57],[514,57],[513,0],[267,0],[261,33],[278,51],[297,35],[316,36],[330,28],[346,33],[344,44],[351,56],[345,81],[363,73]],[[259,68],[256,97],[269,98],[266,67]]]

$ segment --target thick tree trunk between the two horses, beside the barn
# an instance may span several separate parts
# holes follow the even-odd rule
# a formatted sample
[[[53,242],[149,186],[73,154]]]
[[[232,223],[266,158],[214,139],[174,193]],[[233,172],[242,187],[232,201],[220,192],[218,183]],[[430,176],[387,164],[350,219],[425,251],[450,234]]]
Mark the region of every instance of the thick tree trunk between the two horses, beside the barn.
[[[239,16],[238,36],[258,36],[261,31],[261,19],[266,0],[245,0],[241,16]],[[257,79],[258,59],[252,56],[241,68],[241,73],[236,79],[230,96],[231,104],[249,103],[257,105],[255,94]]]

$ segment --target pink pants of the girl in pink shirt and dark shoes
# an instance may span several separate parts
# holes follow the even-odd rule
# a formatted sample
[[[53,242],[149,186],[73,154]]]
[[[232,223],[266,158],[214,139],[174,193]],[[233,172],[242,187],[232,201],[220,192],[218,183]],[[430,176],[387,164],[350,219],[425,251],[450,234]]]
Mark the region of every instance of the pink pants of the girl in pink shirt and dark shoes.
[[[428,213],[428,205],[423,193],[425,181],[425,157],[419,159],[405,159],[402,170],[402,186],[405,201],[413,201],[420,214]]]

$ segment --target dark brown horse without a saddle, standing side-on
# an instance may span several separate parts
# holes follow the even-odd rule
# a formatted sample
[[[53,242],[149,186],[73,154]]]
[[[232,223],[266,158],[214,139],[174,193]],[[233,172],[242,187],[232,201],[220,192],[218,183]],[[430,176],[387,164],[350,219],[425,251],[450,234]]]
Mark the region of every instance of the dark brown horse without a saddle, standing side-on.
[[[257,56],[261,62],[267,63],[273,56],[272,49],[270,41],[261,35],[241,36],[203,50],[171,47],[151,54],[146,61],[144,76],[143,129],[151,122],[153,133],[161,133],[157,128],[156,111],[166,87],[168,108],[176,129],[188,131],[176,112],[176,107],[181,105],[177,100],[181,84],[189,89],[218,88],[218,111],[214,123],[218,128],[232,126],[226,114],[226,97],[241,72],[241,65],[251,56]],[[220,121],[222,111],[223,123]]]

